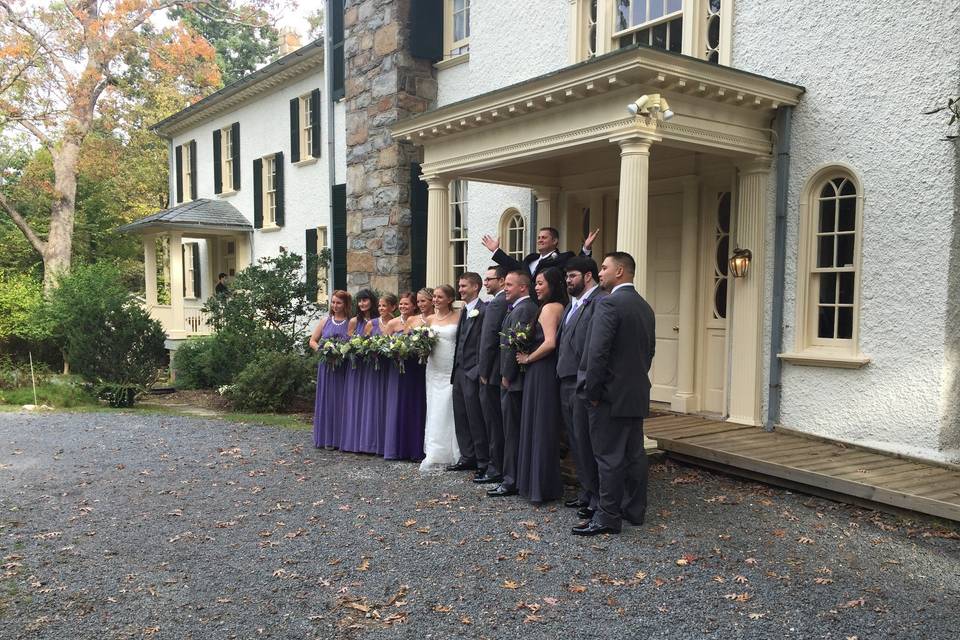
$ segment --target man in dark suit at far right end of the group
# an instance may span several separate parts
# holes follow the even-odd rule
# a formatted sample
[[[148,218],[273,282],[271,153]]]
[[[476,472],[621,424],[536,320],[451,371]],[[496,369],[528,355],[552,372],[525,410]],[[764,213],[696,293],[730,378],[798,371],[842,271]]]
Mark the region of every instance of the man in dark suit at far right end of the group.
[[[574,535],[620,533],[623,519],[643,524],[647,508],[647,456],[643,419],[650,414],[650,365],[656,334],[653,309],[633,285],[636,263],[629,253],[608,253],[600,286],[580,392],[589,403],[590,445],[597,461],[598,508]]]

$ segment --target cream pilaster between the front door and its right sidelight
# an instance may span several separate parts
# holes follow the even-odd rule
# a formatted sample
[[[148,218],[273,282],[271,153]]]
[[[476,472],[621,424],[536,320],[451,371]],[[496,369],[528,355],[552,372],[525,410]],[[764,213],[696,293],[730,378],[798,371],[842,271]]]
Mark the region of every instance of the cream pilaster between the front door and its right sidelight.
[[[683,220],[680,231],[680,332],[677,352],[677,390],[671,408],[680,413],[699,410],[694,383],[697,342],[697,229],[700,182],[683,183]]]

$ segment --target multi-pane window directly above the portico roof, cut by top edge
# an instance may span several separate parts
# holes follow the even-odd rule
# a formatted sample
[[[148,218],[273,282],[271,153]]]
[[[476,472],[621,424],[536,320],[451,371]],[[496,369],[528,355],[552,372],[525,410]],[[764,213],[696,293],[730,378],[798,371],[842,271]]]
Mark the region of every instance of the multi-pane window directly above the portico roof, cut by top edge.
[[[614,37],[619,46],[645,44],[680,53],[683,0],[616,0]]]

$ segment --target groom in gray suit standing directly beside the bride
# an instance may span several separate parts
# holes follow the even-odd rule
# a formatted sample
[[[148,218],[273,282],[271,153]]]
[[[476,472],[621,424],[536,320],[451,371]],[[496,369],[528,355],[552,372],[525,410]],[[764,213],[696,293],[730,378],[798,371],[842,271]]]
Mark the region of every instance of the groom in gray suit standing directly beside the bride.
[[[476,471],[481,478],[487,471],[490,445],[487,427],[483,423],[480,405],[479,374],[480,329],[483,325],[484,305],[480,299],[480,275],[467,271],[458,282],[463,309],[457,323],[457,342],[453,352],[453,424],[460,447],[460,460],[447,471]]]

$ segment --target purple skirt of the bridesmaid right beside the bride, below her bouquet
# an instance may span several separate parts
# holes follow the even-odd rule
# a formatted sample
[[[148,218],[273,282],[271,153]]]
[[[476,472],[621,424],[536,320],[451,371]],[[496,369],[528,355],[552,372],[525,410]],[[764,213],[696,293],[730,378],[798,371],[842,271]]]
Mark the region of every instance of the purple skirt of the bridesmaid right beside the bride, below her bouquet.
[[[423,459],[423,428],[427,419],[425,367],[408,358],[404,372],[397,363],[388,365],[386,431],[383,457],[387,460]]]

